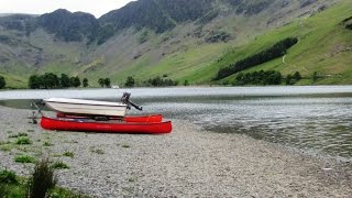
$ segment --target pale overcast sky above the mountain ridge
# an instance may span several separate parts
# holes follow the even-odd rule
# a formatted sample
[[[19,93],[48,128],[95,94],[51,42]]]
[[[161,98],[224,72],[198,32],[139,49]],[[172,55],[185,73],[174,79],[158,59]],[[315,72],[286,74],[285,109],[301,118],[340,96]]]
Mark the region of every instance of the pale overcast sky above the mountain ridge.
[[[57,9],[82,11],[96,18],[119,9],[132,0],[0,0],[0,13],[43,14]]]

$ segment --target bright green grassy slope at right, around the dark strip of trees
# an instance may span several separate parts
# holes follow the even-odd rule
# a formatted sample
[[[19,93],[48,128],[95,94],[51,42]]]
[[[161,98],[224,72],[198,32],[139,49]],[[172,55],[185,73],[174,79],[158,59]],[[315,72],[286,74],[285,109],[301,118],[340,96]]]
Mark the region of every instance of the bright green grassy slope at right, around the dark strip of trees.
[[[299,43],[288,51],[286,64],[283,63],[283,58],[277,58],[245,72],[275,69],[287,75],[298,70],[306,78],[310,78],[314,72],[318,72],[326,76],[318,84],[352,84],[352,31],[345,30],[340,23],[351,15],[352,1],[342,1],[314,16],[293,22],[258,36],[248,45],[233,48],[220,61],[216,61],[209,68],[195,76],[212,77],[220,67],[270,47],[282,38],[298,36]],[[223,80],[232,79],[233,76]],[[301,84],[311,82],[311,80],[304,80]]]

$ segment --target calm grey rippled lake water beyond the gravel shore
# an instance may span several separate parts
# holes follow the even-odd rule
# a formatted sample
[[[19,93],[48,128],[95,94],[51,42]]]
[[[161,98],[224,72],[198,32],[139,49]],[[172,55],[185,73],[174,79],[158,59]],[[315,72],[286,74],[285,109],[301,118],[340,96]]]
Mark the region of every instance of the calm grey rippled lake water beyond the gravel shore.
[[[143,113],[352,160],[352,86],[14,90],[0,92],[0,105],[30,108],[29,99],[50,97],[113,101],[124,91]]]

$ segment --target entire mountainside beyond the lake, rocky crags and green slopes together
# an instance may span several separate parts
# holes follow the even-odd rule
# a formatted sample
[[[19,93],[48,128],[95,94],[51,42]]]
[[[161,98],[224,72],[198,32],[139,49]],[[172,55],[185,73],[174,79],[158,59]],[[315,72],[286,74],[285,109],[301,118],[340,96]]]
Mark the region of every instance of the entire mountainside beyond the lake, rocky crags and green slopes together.
[[[100,77],[123,85],[128,76],[140,84],[156,76],[190,84],[231,81],[234,77],[212,78],[231,63],[298,36],[285,57],[289,64],[277,58],[249,70],[334,76],[326,68],[330,64],[348,78],[351,43],[341,36],[351,29],[350,6],[348,0],[139,0],[99,19],[64,9],[38,16],[11,14],[0,16],[0,75],[10,87],[25,87],[31,74],[46,72],[87,77],[91,85]],[[315,62],[317,54],[333,51],[319,48],[328,44],[309,40],[315,35],[329,37],[319,42],[346,53],[343,63],[339,53]],[[350,81],[343,76],[320,82]]]

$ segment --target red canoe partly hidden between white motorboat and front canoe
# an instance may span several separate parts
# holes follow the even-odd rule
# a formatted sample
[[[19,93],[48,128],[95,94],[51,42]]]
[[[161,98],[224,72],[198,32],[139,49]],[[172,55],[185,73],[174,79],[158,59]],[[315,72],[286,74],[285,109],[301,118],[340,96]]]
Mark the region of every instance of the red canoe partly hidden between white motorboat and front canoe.
[[[80,114],[65,114],[57,113],[57,118],[68,118],[68,119],[95,119],[94,116],[80,116]],[[148,116],[127,116],[127,117],[107,117],[108,120],[120,120],[124,122],[162,122],[162,114],[148,114]]]

